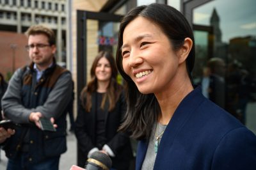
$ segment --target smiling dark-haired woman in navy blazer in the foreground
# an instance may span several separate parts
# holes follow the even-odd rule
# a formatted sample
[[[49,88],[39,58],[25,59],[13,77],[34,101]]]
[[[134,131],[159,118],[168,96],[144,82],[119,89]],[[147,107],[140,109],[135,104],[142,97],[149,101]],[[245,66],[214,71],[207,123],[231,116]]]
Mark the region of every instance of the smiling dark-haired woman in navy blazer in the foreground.
[[[136,169],[255,169],[255,134],[193,88],[193,31],[182,13],[165,4],[133,8],[117,49],[127,83],[120,130],[140,140]]]

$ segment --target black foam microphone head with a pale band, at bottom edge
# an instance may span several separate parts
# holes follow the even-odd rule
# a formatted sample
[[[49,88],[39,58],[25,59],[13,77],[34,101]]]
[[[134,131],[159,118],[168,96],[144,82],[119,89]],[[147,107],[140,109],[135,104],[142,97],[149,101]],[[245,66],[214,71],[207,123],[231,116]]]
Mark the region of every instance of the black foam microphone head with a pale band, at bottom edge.
[[[108,170],[112,166],[111,158],[101,151],[93,152],[86,163],[86,170]]]

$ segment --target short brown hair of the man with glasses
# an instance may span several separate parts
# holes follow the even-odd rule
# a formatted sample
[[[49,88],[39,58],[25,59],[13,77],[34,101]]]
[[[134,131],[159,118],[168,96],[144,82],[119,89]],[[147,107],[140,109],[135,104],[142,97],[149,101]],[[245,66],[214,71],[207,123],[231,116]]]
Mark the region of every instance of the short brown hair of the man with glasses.
[[[52,29],[47,26],[43,26],[43,25],[31,26],[25,33],[25,35],[28,37],[29,35],[40,35],[40,34],[43,34],[48,37],[48,41],[50,45],[56,44],[54,31],[52,31]]]

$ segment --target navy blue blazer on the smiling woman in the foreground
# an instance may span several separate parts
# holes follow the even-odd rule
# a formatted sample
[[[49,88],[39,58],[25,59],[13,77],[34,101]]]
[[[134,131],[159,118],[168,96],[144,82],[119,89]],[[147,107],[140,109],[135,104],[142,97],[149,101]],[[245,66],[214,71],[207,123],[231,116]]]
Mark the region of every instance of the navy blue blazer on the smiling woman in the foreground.
[[[148,141],[140,141],[141,169]],[[177,107],[156,155],[154,169],[256,169],[256,136],[194,89]]]

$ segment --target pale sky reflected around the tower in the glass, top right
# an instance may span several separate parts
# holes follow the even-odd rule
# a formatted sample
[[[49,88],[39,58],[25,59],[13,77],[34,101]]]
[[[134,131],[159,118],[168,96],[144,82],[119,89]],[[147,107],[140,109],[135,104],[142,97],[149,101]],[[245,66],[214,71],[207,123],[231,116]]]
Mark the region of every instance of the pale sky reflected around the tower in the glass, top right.
[[[220,17],[222,41],[237,36],[256,36],[255,0],[215,0],[193,10],[193,23],[209,26],[213,9]]]

